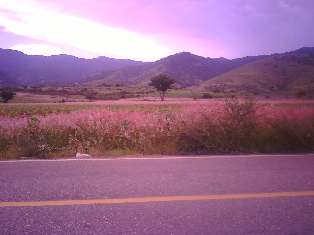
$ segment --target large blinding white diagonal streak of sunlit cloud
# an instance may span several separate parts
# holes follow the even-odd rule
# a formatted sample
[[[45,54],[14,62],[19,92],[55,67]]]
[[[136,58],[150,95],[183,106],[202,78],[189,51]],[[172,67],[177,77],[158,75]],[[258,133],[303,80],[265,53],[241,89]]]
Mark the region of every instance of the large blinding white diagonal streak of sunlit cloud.
[[[36,2],[2,1],[0,8],[0,25],[14,34],[115,58],[152,61],[169,55],[169,50],[143,35],[50,12]]]

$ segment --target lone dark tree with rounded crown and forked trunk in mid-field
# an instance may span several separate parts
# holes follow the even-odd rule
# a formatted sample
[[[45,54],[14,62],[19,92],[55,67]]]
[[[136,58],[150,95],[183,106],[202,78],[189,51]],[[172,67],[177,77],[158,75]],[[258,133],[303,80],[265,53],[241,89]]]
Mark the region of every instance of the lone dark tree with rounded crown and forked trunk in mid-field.
[[[173,89],[173,84],[176,80],[173,77],[170,77],[164,73],[160,73],[150,79],[149,86],[154,86],[157,91],[160,93],[161,101],[164,101],[165,92]]]

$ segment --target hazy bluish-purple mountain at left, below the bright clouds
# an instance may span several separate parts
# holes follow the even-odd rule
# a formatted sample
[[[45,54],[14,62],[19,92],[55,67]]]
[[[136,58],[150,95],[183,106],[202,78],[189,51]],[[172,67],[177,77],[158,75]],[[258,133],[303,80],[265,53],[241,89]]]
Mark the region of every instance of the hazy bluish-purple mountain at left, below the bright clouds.
[[[99,70],[148,63],[150,62],[118,60],[105,56],[88,60],[71,55],[26,55],[20,51],[0,48],[0,70],[22,85],[71,81]]]

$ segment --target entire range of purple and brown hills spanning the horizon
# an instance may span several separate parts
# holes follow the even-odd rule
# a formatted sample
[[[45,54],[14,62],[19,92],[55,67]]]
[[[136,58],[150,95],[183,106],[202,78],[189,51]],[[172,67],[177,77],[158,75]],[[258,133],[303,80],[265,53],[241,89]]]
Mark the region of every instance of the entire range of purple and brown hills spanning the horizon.
[[[25,55],[0,49],[1,86],[89,84],[147,86],[150,78],[166,73],[176,87],[208,91],[276,93],[307,90],[313,85],[314,48],[282,54],[228,60],[181,52],[155,62],[118,60],[105,56],[87,60],[69,55]],[[6,81],[6,82],[4,82]],[[10,81],[10,82],[8,82]],[[193,86],[193,87],[192,87]]]

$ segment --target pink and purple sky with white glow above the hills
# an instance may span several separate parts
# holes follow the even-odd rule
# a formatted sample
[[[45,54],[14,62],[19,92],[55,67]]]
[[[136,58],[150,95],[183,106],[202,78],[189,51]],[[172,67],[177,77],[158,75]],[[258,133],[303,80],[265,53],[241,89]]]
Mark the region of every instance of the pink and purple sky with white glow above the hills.
[[[0,0],[0,48],[155,61],[314,47],[313,0]]]

